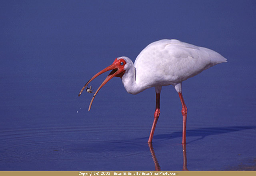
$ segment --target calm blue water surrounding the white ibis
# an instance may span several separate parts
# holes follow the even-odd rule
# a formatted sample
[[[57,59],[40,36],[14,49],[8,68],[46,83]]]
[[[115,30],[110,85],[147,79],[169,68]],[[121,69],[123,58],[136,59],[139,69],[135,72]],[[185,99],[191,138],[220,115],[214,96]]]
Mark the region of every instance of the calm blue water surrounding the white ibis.
[[[0,10],[0,170],[239,170],[255,166],[255,1],[6,1]],[[228,59],[162,88],[152,146],[155,91],[137,95],[113,78],[82,86],[118,56],[135,60],[162,38]],[[107,76],[90,85],[96,89]]]

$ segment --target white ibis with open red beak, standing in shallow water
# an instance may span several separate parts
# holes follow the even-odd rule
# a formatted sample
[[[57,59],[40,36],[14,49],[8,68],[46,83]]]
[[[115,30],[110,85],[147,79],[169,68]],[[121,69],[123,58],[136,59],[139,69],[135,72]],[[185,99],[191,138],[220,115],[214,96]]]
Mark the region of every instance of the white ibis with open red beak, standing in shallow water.
[[[130,94],[138,94],[147,88],[155,87],[156,110],[148,139],[148,143],[151,143],[160,115],[160,92],[162,86],[172,85],[178,92],[182,104],[182,144],[186,144],[188,109],[182,96],[182,81],[222,62],[227,62],[226,58],[208,48],[180,42],[179,40],[163,39],[153,42],[144,48],[137,56],[134,64],[128,57],[122,56],[116,58],[110,66],[94,75],[84,85],[78,96],[81,95],[84,88],[94,78],[108,70],[112,71],[94,93],[88,111],[90,111],[92,102],[100,88],[114,76],[121,78],[124,88]],[[88,92],[90,92],[90,88],[88,89]]]

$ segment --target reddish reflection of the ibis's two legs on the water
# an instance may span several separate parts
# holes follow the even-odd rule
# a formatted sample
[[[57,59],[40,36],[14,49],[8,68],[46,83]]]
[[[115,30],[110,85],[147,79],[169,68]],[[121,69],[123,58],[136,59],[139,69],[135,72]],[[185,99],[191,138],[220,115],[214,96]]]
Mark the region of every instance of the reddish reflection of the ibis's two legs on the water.
[[[155,151],[154,151],[154,148],[153,148],[153,145],[152,143],[148,143],[148,146],[149,146],[149,150],[151,152],[151,155],[152,155],[152,159],[154,161],[154,164],[155,164],[155,170],[156,171],[160,171],[161,170],[161,167],[158,163],[158,160],[156,159],[156,154],[155,154]],[[188,170],[187,168],[187,150],[186,150],[186,144],[182,144],[182,151],[183,151],[183,168],[182,170]]]

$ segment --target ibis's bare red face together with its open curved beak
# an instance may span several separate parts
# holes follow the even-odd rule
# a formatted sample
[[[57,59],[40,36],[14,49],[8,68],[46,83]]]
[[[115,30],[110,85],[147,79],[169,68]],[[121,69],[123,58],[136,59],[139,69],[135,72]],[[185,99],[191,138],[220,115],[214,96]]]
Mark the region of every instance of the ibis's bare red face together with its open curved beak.
[[[111,64],[110,66],[108,66],[107,68],[101,70],[100,72],[98,72],[96,75],[92,76],[92,78],[86,82],[86,84],[84,85],[84,87],[82,88],[82,90],[79,92],[78,96],[80,96],[83,92],[83,90],[86,88],[86,86],[88,86],[88,84],[94,80],[94,78],[96,78],[97,76],[101,75],[102,73],[105,73],[109,70],[112,70],[110,72],[110,74],[108,74],[108,76],[106,77],[106,79],[102,82],[102,84],[99,86],[99,88],[96,90],[96,92],[94,93],[93,97],[92,97],[92,100],[90,102],[90,105],[89,105],[89,109],[88,111],[90,111],[91,109],[91,106],[92,106],[92,102],[95,98],[95,96],[97,95],[97,93],[99,92],[99,90],[109,81],[111,80],[111,78],[113,78],[114,76],[116,77],[120,77],[122,78],[122,76],[124,75],[124,66],[125,66],[126,62],[124,59],[120,58],[120,59],[115,59],[113,64]]]

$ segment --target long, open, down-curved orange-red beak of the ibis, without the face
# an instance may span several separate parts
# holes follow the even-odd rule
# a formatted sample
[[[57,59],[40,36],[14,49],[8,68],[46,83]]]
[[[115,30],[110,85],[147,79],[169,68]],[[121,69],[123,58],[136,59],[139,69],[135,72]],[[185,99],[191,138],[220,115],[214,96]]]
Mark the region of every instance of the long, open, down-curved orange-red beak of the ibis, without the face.
[[[116,64],[116,60],[113,62],[113,64],[111,64],[110,66],[108,66],[107,68],[104,68],[103,70],[101,70],[100,72],[98,72],[97,74],[95,74],[94,76],[92,76],[92,78],[90,80],[88,80],[88,82],[86,82],[86,84],[84,85],[84,87],[82,88],[82,90],[79,92],[78,96],[80,96],[84,90],[84,88],[86,88],[86,86],[88,86],[88,84],[94,80],[94,78],[96,78],[97,76],[101,75],[104,72],[107,72],[109,70],[112,70],[110,72],[110,74],[108,74],[108,76],[106,77],[106,79],[102,82],[102,84],[99,86],[99,88],[96,90],[96,92],[94,93],[92,100],[90,102],[88,111],[90,111],[91,106],[92,106],[92,102],[95,98],[95,96],[97,95],[97,93],[99,92],[99,90],[109,81],[111,80],[111,78],[113,78],[114,76],[118,76],[118,74],[122,74],[123,72],[125,72],[125,70],[123,68],[119,68]]]

